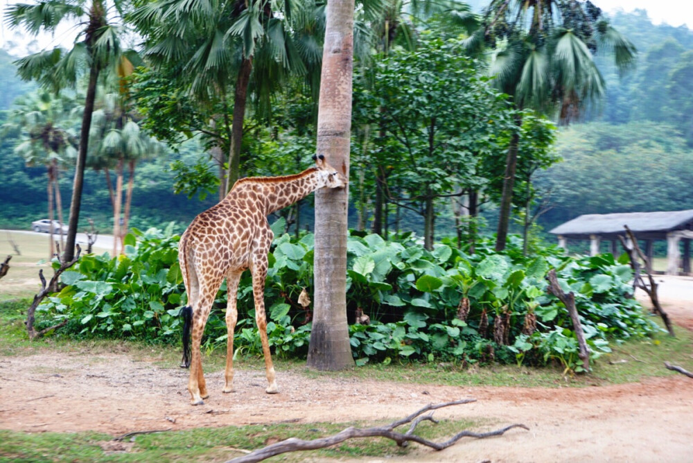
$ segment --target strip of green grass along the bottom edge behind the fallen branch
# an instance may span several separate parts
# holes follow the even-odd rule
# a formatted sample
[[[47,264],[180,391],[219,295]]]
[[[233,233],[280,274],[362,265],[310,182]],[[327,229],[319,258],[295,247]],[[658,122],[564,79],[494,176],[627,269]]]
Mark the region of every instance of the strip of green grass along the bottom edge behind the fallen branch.
[[[305,423],[225,428],[198,428],[155,433],[113,442],[103,433],[17,433],[0,431],[0,461],[12,462],[222,462],[243,455],[237,449],[254,450],[288,437],[318,439],[348,426],[369,427],[383,423]],[[423,421],[417,434],[426,439],[444,440],[459,430],[479,426],[471,421],[441,419],[438,424]],[[406,426],[399,429],[407,430]],[[349,439],[340,445],[311,451],[311,457],[392,457],[406,455],[417,446],[401,448],[383,438]],[[302,461],[306,453],[288,453],[282,459]]]

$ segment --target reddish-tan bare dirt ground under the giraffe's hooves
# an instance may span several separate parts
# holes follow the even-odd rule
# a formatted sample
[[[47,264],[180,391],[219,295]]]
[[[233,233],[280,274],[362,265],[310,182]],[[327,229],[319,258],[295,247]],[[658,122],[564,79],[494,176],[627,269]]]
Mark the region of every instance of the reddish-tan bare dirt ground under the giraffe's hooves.
[[[693,329],[693,279],[658,280],[672,320]],[[485,423],[479,430],[509,423],[525,423],[530,430],[464,440],[441,452],[421,448],[387,461],[693,461],[693,380],[683,375],[543,389],[423,386],[279,371],[280,394],[268,395],[263,371],[239,370],[232,394],[221,392],[222,372],[207,374],[211,396],[200,407],[188,405],[187,375],[175,365],[157,367],[119,353],[0,359],[0,428],[119,435],[251,423],[394,420],[427,403],[475,398],[475,403],[439,410],[436,416]]]

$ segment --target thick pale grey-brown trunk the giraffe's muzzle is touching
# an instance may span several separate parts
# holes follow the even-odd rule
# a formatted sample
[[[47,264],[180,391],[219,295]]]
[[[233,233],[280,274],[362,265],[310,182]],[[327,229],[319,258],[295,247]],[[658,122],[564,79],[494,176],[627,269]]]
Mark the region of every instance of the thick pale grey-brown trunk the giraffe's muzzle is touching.
[[[317,116],[317,153],[349,178],[353,0],[330,1]],[[315,193],[315,295],[308,367],[353,367],[347,325],[347,211],[349,185]]]

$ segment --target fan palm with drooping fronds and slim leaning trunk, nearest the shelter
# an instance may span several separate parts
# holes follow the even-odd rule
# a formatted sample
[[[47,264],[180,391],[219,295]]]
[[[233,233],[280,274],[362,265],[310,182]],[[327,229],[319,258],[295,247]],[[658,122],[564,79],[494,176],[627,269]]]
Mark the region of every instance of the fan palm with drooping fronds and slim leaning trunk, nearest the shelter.
[[[635,46],[584,0],[491,0],[482,27],[467,44],[470,50],[493,49],[489,71],[518,110],[557,116],[562,123],[604,96],[604,79],[593,60],[597,51],[611,51],[619,69],[635,58]],[[507,151],[497,251],[505,249],[521,127],[518,111]]]

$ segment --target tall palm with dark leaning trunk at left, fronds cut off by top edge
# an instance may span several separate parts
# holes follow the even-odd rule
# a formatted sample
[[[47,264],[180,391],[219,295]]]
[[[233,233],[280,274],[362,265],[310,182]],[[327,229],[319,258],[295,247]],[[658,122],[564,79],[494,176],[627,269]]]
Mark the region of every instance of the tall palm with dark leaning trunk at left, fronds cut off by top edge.
[[[84,0],[43,0],[35,4],[16,3],[5,12],[6,23],[10,28],[21,26],[32,35],[42,30],[54,32],[63,21],[78,21],[78,27],[81,28],[71,50],[44,50],[16,62],[17,73],[22,79],[37,80],[43,87],[55,92],[75,85],[85,68],[89,72],[64,261],[71,261],[75,252],[98,76],[101,71],[116,67],[120,61],[115,58],[124,53],[121,49],[120,28],[113,18],[114,15],[122,14],[124,6],[125,2],[122,0],[114,0],[110,6],[106,0],[91,0],[89,4]]]

